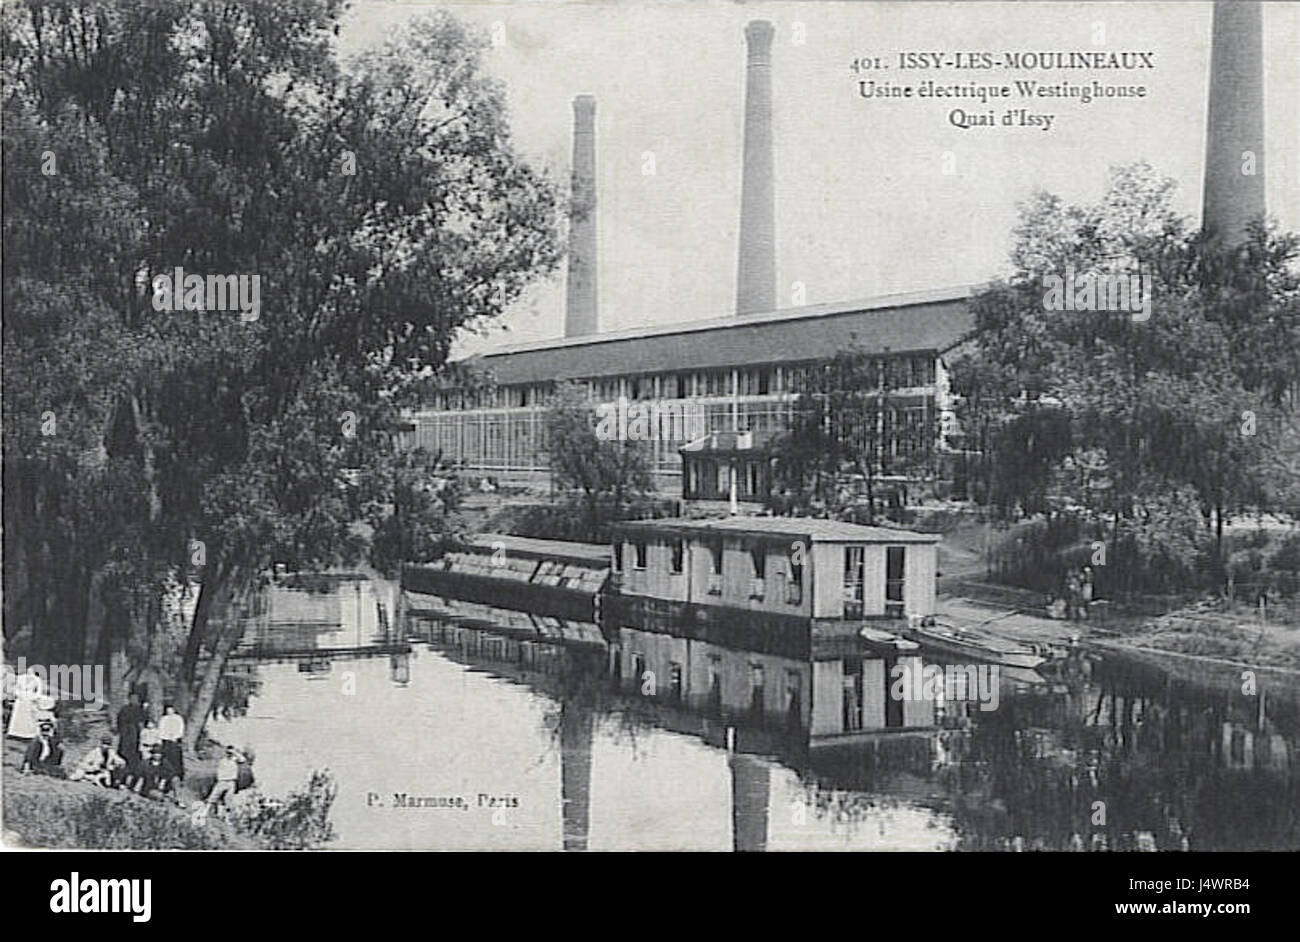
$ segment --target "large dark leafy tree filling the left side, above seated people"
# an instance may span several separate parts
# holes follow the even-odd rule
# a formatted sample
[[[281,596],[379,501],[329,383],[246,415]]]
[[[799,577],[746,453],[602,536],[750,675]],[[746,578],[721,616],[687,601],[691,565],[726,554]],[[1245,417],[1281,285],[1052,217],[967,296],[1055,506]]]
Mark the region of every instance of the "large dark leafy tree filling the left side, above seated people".
[[[168,587],[198,581],[161,663],[191,746],[234,603],[272,563],[368,552],[385,502],[350,499],[352,469],[372,490],[408,482],[412,459],[382,468],[416,383],[558,259],[555,187],[511,140],[485,39],[436,14],[341,61],[341,9],[4,12],[5,123],[23,131],[4,155],[6,583],[70,550],[75,578],[51,578],[84,596],[83,656],[117,651],[139,676]],[[256,320],[157,311],[153,279],[176,268],[259,278]],[[78,631],[34,591],[5,605],[6,630],[12,615],[40,638]]]

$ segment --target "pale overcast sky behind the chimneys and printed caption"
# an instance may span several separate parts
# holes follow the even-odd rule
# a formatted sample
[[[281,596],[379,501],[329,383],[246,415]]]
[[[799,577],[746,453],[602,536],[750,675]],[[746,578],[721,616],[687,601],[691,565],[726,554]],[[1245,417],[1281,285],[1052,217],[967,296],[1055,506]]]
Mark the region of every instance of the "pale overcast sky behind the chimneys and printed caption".
[[[344,48],[380,42],[433,6],[504,43],[486,66],[507,87],[519,147],[567,181],[572,97],[597,96],[599,324],[620,330],[731,314],[736,292],[745,40],[772,48],[777,305],[987,281],[1006,270],[1015,204],[1035,188],[1092,201],[1114,164],[1145,159],[1199,218],[1209,3],[358,3]],[[1104,43],[1095,44],[1097,23]],[[802,43],[796,42],[802,38]],[[1264,4],[1269,212],[1300,229],[1300,4]],[[1141,71],[901,71],[901,51],[1143,51]],[[1145,100],[1039,101],[1050,131],[948,123],[953,101],[866,101],[850,62],[916,83],[1062,79],[1148,86]],[[956,103],[983,113],[988,107]],[[1000,114],[1017,100],[991,105]],[[642,173],[645,155],[655,173]],[[945,155],[949,155],[945,157]],[[945,174],[945,160],[953,173]],[[563,334],[564,274],[462,350]]]

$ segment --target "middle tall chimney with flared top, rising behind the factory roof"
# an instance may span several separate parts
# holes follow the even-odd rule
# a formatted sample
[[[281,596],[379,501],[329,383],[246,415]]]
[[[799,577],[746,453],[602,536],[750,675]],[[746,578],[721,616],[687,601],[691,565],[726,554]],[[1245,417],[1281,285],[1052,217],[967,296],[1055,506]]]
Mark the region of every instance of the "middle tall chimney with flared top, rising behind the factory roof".
[[[772,35],[767,19],[745,26],[745,164],[740,195],[736,313],[776,307],[776,222],[772,207]]]

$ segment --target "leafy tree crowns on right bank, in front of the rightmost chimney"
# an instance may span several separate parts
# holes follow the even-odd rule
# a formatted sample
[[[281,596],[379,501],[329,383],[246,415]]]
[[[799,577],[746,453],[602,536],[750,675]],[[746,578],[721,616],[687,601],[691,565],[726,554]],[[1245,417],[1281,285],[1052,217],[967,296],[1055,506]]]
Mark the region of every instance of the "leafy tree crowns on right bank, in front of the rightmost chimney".
[[[1242,246],[1206,239],[1171,191],[1138,164],[1092,207],[1035,195],[1014,274],[974,299],[975,339],[952,365],[970,495],[1004,518],[1105,520],[1109,565],[1162,585],[1193,578],[1197,522],[1221,546],[1231,515],[1294,507],[1300,374],[1296,238],[1258,223]],[[1150,316],[1048,309],[1044,279],[1067,270],[1148,277]]]

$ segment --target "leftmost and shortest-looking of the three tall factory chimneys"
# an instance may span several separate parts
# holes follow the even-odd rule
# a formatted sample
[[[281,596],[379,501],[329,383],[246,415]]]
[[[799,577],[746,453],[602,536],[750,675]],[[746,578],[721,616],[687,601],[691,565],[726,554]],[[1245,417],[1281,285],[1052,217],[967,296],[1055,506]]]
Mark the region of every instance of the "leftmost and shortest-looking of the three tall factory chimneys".
[[[564,337],[595,333],[595,97],[573,99],[573,177]]]

